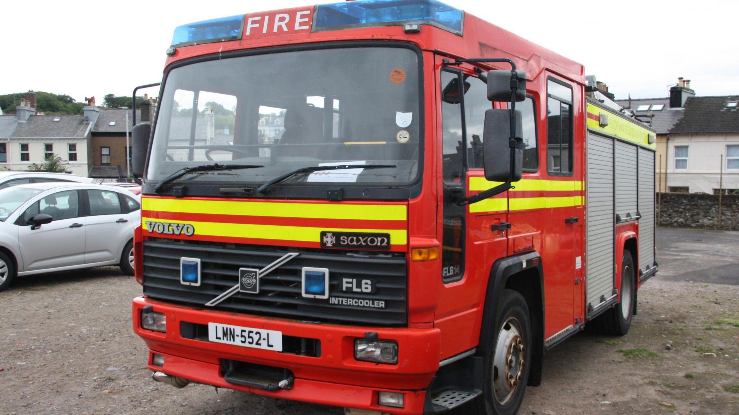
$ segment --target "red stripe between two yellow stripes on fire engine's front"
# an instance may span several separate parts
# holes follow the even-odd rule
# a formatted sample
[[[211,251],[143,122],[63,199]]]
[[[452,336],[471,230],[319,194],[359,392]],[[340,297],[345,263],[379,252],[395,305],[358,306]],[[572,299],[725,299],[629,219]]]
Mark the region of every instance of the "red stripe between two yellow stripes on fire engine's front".
[[[217,215],[214,213],[178,213],[157,212],[142,210],[141,216],[152,219],[191,221],[191,222],[219,222],[237,224],[272,224],[279,226],[297,227],[341,227],[348,229],[407,229],[406,221],[370,221],[361,219],[305,219],[285,218],[277,216],[244,216],[244,215]]]

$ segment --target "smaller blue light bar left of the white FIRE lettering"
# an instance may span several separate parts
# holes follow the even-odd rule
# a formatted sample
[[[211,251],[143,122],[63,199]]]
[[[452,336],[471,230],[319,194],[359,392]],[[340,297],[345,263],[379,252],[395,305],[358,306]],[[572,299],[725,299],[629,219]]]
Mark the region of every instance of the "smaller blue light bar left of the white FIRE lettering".
[[[234,41],[241,38],[242,27],[244,27],[244,15],[183,24],[174,29],[172,46]]]

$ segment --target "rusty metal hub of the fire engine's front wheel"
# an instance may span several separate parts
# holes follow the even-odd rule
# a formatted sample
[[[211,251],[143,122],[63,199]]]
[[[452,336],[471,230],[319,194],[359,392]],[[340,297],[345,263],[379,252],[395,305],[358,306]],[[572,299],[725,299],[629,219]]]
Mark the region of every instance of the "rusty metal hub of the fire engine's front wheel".
[[[498,333],[493,361],[493,388],[500,405],[511,400],[523,377],[524,360],[521,326],[516,318],[509,318]]]

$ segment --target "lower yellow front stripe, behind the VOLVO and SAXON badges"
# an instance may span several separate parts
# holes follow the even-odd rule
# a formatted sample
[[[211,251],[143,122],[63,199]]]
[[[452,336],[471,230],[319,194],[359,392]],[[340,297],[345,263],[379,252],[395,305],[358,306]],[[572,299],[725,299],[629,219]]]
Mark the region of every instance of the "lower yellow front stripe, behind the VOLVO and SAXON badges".
[[[146,222],[163,222],[160,219],[141,218],[141,227],[149,230]],[[224,236],[227,238],[278,239],[284,241],[320,242],[321,231],[389,233],[390,244],[404,245],[408,240],[406,230],[396,229],[344,229],[340,227],[300,227],[273,224],[237,224],[220,222],[193,222],[167,219],[166,223],[191,224],[195,235]]]

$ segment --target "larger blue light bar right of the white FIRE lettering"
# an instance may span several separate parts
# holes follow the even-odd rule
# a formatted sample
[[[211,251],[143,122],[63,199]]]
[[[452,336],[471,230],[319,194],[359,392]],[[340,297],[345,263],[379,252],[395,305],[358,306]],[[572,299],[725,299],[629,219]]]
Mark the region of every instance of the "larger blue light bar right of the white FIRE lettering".
[[[319,4],[313,30],[420,23],[462,34],[464,12],[437,0],[356,0]]]

